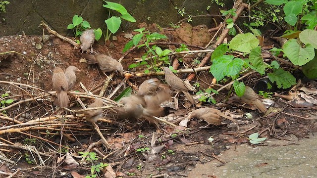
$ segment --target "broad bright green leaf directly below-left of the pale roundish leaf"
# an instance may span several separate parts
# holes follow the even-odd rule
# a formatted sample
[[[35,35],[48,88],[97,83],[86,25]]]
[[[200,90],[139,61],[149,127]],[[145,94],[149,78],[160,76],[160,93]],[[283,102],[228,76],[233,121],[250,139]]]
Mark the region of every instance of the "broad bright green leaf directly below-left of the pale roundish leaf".
[[[240,72],[244,61],[240,58],[233,58],[234,56],[232,55],[222,55],[212,61],[210,72],[216,78],[217,82],[225,76],[234,76]]]

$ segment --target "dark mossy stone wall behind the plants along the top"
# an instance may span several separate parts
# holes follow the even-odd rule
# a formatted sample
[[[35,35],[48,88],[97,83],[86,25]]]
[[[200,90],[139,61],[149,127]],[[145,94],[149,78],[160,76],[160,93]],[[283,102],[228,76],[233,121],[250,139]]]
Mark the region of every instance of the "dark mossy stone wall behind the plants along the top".
[[[41,21],[45,21],[55,31],[62,35],[72,35],[67,30],[75,14],[81,15],[84,20],[90,22],[92,28],[106,29],[105,20],[108,11],[102,5],[103,0],[8,0],[6,13],[0,13],[0,36],[42,35],[43,29],[39,28]],[[170,23],[177,23],[188,15],[218,14],[218,5],[211,4],[211,0],[112,0],[122,4],[128,12],[137,20],[136,23],[122,21],[122,31],[135,29],[138,23],[157,23],[161,27],[167,27]],[[230,9],[233,1],[226,3]],[[210,8],[207,10],[208,6]],[[178,13],[179,9],[186,12],[184,16]],[[211,16],[192,18],[193,26],[206,24],[214,27]]]

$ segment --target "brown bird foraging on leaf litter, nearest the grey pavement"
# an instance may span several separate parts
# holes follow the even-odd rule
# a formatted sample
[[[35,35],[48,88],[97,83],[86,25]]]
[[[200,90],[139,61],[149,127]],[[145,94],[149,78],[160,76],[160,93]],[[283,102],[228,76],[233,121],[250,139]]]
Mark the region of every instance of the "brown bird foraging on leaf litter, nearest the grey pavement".
[[[221,117],[224,117],[226,119],[229,119],[232,122],[237,123],[235,119],[233,119],[230,116],[227,116],[223,114],[221,111],[218,109],[213,109],[213,108],[199,108],[194,110],[192,113],[189,114],[189,119],[191,118],[198,118],[198,119],[203,119],[209,124],[213,124],[215,126],[219,126],[221,124]]]

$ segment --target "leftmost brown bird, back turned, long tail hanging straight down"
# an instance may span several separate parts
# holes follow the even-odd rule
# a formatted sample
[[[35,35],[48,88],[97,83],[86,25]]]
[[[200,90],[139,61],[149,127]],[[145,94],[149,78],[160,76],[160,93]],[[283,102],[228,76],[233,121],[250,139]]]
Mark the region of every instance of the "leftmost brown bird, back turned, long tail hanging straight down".
[[[68,84],[66,76],[61,68],[55,67],[55,69],[53,70],[52,82],[57,96],[54,104],[58,105],[59,107],[67,107],[68,96],[66,91],[68,88]]]

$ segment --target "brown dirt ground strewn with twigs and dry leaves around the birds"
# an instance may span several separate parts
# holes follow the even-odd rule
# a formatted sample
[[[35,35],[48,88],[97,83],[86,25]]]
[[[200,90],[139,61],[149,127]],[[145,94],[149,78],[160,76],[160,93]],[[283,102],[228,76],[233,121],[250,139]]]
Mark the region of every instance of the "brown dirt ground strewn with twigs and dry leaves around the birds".
[[[175,49],[180,44],[187,44],[190,50],[198,50],[204,48],[213,36],[213,32],[208,32],[206,26],[191,27],[189,24],[182,24],[179,29],[159,29],[156,25],[147,26],[145,24],[140,26],[146,26],[152,32],[165,34],[168,37],[168,40],[164,41],[166,44],[159,45],[163,49]],[[135,35],[134,32],[132,34]],[[124,45],[130,41],[124,36],[125,34],[118,34],[116,40],[106,42],[106,44],[96,42],[94,50],[119,59],[123,56]],[[266,45],[270,45],[273,42],[266,43]],[[195,47],[195,45],[201,46],[201,48]],[[143,178],[168,175],[169,178],[181,178],[186,177],[198,162],[209,162],[220,152],[230,149],[232,144],[250,144],[247,139],[249,134],[259,132],[261,137],[267,137],[267,139],[283,139],[283,136],[287,134],[294,134],[298,138],[302,138],[307,137],[308,133],[317,131],[316,121],[305,119],[310,117],[313,109],[291,107],[284,100],[273,97],[271,100],[274,104],[268,109],[269,112],[260,114],[254,107],[243,105],[238,100],[226,100],[228,90],[222,90],[218,95],[214,95],[216,105],[208,102],[200,102],[198,105],[216,107],[223,112],[240,115],[241,117],[236,118],[239,127],[224,120],[221,126],[202,128],[207,126],[205,121],[192,119],[186,129],[173,128],[163,123],[160,123],[160,128],[157,129],[144,120],[116,120],[109,115],[112,111],[105,109],[104,120],[97,124],[112,145],[110,150],[106,150],[100,143],[100,137],[93,130],[91,123],[76,113],[63,112],[53,106],[51,94],[39,97],[36,101],[27,100],[40,96],[46,91],[53,91],[53,68],[65,69],[69,65],[74,65],[81,70],[77,75],[77,81],[81,82],[88,91],[98,95],[106,77],[97,65],[87,64],[82,60],[80,49],[75,49],[74,46],[52,35],[46,41],[43,41],[41,36],[20,35],[1,37],[0,51],[20,53],[9,52],[0,55],[0,94],[9,94],[7,97],[1,97],[1,100],[13,98],[13,103],[20,102],[7,108],[5,113],[3,111],[0,113],[0,152],[8,160],[16,163],[1,161],[0,171],[13,173],[20,168],[16,177],[80,178],[80,176],[85,177],[91,173],[92,164],[103,162],[108,163],[108,168],[113,169],[112,171],[104,169],[104,173],[99,173],[104,174],[105,177],[110,177],[106,174],[115,173],[116,176],[124,177]],[[128,66],[134,63],[135,59],[141,58],[145,52],[145,48],[136,48],[126,55],[121,62],[124,70],[142,71],[144,69],[142,67],[129,70]],[[192,62],[196,58],[202,60],[205,55],[190,54],[183,56],[183,60],[186,62]],[[179,68],[184,68],[184,65],[181,63]],[[212,76],[209,70],[199,72],[198,75],[206,83],[211,84]],[[187,74],[178,76],[184,79]],[[154,77],[164,83],[164,76],[132,77],[110,99],[114,99],[129,86],[132,86],[132,93],[135,93],[144,80]],[[123,78],[115,75],[104,96],[107,97],[111,94]],[[254,87],[261,78],[263,77],[254,74],[246,77],[244,82],[250,87]],[[197,78],[191,81],[191,85],[195,83],[200,83],[197,90],[209,87]],[[304,81],[302,85],[308,88],[316,87],[314,81]],[[78,83],[73,90],[85,92]],[[286,94],[285,90],[276,92]],[[194,95],[195,92],[191,92],[191,94]],[[178,110],[165,109],[167,118],[173,118],[169,122],[175,121],[175,124],[178,124],[177,120],[180,121],[194,109],[194,107],[186,107],[188,103],[184,102],[183,98],[181,94]],[[70,109],[72,110],[81,109],[76,99],[76,95],[70,95],[72,105]],[[81,99],[86,105],[92,102],[87,97]],[[246,113],[251,113],[253,117],[245,117]],[[54,118],[49,120],[50,122],[46,125],[39,123],[36,127],[26,123],[37,118],[55,115],[67,115],[67,117]],[[12,128],[16,130],[9,130]],[[211,137],[212,142],[209,141]],[[24,148],[23,145],[28,148]],[[36,151],[30,152],[29,148]],[[150,148],[151,152],[145,148]],[[66,154],[66,150],[69,154]],[[99,160],[92,163],[81,159],[78,152],[86,151],[96,152]],[[66,158],[63,157],[65,155]],[[72,159],[67,158],[67,155],[71,155]],[[103,157],[104,159],[102,159]]]

